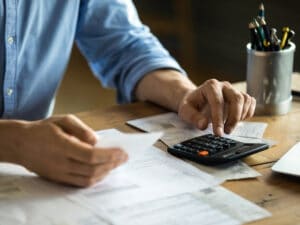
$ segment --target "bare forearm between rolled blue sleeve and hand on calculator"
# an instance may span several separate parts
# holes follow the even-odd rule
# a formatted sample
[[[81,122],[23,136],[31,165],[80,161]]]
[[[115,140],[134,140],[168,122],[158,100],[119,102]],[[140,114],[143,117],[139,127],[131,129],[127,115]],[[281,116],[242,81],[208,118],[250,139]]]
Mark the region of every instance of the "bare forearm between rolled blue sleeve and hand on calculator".
[[[155,70],[138,83],[135,94],[138,100],[151,101],[178,111],[182,98],[195,89],[195,84],[178,71]]]

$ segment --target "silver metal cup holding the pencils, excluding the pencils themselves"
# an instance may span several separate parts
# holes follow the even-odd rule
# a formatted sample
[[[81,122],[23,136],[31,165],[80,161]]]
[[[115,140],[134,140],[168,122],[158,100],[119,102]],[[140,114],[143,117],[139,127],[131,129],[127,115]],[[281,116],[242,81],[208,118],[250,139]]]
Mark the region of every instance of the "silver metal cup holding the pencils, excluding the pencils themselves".
[[[256,115],[282,115],[292,102],[291,79],[296,46],[257,51],[247,44],[247,93],[256,99]]]

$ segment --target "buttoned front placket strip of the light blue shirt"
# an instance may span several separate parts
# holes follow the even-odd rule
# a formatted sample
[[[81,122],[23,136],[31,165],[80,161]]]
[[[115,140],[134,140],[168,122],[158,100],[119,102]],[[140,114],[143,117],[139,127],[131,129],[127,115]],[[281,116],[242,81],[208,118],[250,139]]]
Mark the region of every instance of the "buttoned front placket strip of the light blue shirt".
[[[6,1],[5,17],[5,76],[3,83],[4,117],[10,117],[16,105],[16,68],[17,68],[17,0]]]

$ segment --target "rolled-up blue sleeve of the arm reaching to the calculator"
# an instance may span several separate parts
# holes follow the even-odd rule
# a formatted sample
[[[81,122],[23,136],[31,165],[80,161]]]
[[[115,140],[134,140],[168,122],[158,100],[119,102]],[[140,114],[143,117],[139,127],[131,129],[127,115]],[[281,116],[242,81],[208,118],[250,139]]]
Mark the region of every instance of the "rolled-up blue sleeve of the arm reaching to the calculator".
[[[76,43],[103,86],[116,88],[119,103],[135,100],[148,72],[183,69],[143,25],[131,0],[83,0]]]

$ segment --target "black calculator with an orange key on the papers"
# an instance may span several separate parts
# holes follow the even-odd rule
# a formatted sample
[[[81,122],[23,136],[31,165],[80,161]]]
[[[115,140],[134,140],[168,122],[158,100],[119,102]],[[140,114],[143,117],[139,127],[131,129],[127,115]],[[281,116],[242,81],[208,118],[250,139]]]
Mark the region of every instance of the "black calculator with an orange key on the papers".
[[[168,148],[168,152],[192,161],[214,165],[231,162],[269,148],[265,143],[244,143],[213,134],[198,136]]]

